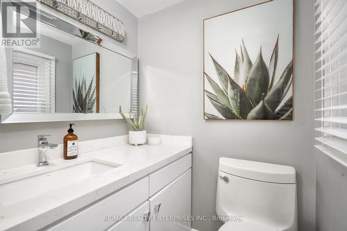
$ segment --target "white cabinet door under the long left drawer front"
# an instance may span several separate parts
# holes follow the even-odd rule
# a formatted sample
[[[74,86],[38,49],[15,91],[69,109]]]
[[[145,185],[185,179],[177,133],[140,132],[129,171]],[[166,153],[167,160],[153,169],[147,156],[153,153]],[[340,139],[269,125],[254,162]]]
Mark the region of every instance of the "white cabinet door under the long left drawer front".
[[[146,216],[144,218],[144,216]],[[131,212],[124,221],[119,221],[107,231],[148,231],[149,230],[149,202],[140,205]],[[142,219],[144,218],[144,219]],[[141,220],[142,219],[142,220]]]

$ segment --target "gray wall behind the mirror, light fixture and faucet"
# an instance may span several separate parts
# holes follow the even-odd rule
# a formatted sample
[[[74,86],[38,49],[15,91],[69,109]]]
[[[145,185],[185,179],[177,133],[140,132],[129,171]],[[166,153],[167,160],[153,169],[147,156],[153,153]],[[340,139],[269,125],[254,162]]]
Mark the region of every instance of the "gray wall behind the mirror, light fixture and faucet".
[[[126,24],[126,41],[115,42],[130,52],[137,53],[137,18],[116,1],[94,2],[116,15]],[[67,133],[67,122],[0,124],[0,153],[37,146],[38,134],[51,134],[51,142],[62,144],[62,137]],[[79,140],[97,139],[126,134],[128,127],[122,120],[77,121],[76,135]]]

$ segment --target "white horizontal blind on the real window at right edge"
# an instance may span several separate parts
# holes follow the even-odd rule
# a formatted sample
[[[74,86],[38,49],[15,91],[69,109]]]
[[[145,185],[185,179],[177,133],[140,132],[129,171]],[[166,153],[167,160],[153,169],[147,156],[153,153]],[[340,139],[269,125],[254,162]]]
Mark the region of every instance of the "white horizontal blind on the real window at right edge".
[[[347,154],[347,0],[316,0],[314,11],[316,148]]]

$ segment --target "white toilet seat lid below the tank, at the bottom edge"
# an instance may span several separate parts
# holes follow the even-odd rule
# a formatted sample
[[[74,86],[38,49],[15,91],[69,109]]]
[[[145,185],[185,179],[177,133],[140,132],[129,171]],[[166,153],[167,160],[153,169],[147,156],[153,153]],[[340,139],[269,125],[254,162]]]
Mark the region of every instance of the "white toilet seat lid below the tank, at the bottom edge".
[[[251,221],[228,221],[219,231],[278,231],[278,229]]]

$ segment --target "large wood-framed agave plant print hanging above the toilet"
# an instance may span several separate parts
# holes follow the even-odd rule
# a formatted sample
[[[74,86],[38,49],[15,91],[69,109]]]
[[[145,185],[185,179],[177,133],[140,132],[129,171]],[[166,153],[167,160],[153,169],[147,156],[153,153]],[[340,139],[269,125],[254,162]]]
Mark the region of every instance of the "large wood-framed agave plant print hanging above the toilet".
[[[204,20],[205,119],[293,119],[293,2]]]

